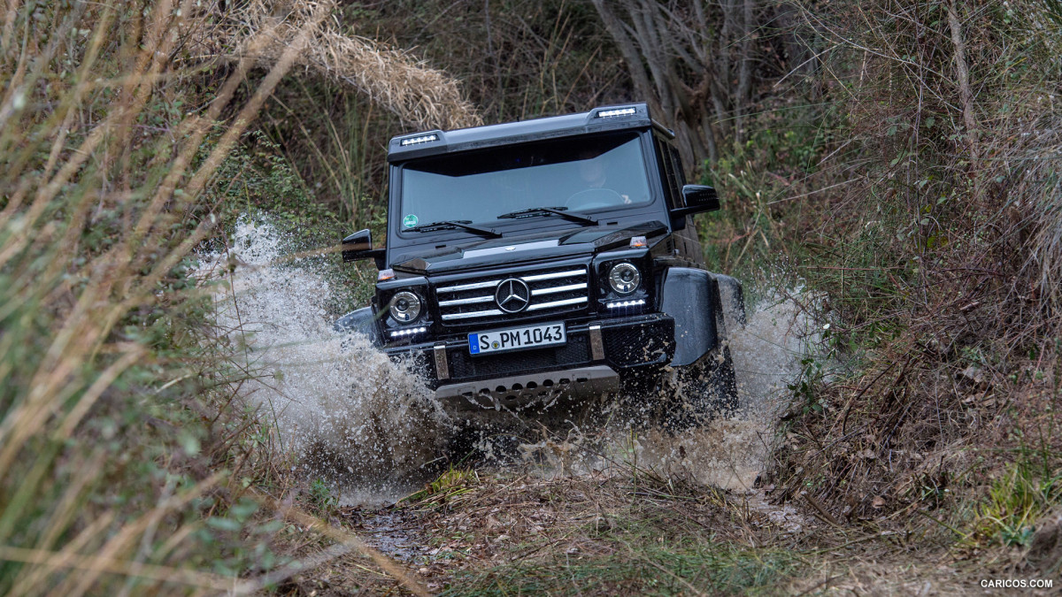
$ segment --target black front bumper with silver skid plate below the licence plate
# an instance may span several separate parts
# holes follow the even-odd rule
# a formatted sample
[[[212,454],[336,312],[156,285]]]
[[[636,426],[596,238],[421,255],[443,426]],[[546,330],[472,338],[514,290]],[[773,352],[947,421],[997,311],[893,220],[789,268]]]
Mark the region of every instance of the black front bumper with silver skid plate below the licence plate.
[[[674,320],[663,313],[566,322],[566,330],[565,344],[526,351],[473,356],[467,335],[460,335],[384,352],[417,359],[440,399],[494,408],[616,391],[624,378],[662,370],[674,355]]]

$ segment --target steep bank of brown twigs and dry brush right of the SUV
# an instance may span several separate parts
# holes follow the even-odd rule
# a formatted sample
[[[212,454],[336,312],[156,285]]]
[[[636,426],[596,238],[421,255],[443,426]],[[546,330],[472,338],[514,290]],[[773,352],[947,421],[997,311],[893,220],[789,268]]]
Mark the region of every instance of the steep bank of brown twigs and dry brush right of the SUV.
[[[1059,466],[1052,422],[1022,414],[1062,398],[1027,391],[1050,375],[1062,323],[1046,6],[805,12],[826,45],[821,85],[846,116],[805,182],[826,192],[800,200],[812,226],[801,273],[823,291],[807,308],[832,328],[794,387],[784,496],[807,492],[863,524],[932,511],[965,525],[963,505],[986,496],[1023,434],[1051,446],[1048,477]]]

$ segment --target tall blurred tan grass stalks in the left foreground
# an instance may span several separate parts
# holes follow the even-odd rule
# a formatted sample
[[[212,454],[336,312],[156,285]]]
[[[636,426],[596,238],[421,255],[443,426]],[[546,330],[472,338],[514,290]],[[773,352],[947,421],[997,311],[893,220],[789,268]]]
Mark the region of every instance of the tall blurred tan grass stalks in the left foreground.
[[[203,35],[181,17],[194,5],[7,4],[0,592],[254,592],[309,565],[274,553],[278,529],[297,527],[324,544],[308,562],[336,543],[423,594],[356,536],[269,497],[275,463],[238,398],[254,372],[212,341],[188,276],[219,223],[206,199],[233,183],[219,166],[329,6],[284,29],[280,49],[279,28],[249,33],[228,76],[196,96],[195,69],[171,59]],[[268,72],[240,96],[255,65]]]

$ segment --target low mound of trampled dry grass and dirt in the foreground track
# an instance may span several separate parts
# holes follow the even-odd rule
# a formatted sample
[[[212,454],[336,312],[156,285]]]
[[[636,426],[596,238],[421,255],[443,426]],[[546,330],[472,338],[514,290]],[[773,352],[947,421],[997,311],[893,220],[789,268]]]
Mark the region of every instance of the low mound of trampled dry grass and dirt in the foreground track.
[[[837,527],[811,510],[770,506],[761,493],[630,467],[452,468],[394,507],[341,509],[338,523],[373,538],[443,595],[955,594],[1010,564],[957,565],[933,529]],[[289,586],[396,586],[349,564],[307,570]]]

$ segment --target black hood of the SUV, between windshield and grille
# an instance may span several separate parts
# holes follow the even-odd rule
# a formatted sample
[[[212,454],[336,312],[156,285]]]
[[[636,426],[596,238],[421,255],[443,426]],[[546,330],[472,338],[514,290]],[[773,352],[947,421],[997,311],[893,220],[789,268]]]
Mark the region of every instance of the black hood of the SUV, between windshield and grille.
[[[521,263],[577,255],[595,255],[630,246],[631,237],[655,237],[667,234],[663,222],[644,222],[627,226],[603,225],[573,231],[510,235],[487,240],[470,239],[442,251],[392,265],[398,272],[418,275],[455,273],[501,263]]]

